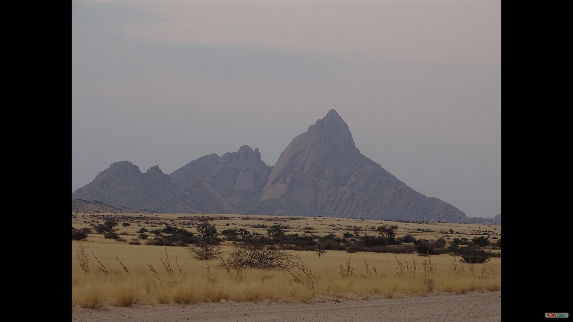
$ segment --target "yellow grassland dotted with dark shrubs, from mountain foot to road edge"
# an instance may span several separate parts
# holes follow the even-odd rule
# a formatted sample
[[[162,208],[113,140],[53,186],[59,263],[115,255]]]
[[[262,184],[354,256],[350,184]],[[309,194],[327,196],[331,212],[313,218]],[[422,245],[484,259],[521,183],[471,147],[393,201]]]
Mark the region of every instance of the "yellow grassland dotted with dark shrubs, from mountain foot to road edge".
[[[500,226],[171,216],[72,214],[72,226],[74,219],[84,223],[72,229],[72,305],[304,302],[501,289]],[[439,226],[463,226],[464,233],[454,237]]]

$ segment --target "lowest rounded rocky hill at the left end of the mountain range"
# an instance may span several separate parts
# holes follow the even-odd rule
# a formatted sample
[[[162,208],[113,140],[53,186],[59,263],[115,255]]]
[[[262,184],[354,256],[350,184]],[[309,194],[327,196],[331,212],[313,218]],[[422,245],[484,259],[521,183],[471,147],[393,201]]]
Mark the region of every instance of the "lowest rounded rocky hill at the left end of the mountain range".
[[[221,195],[200,180],[182,190],[158,166],[142,173],[127,161],[111,164],[91,183],[74,191],[72,199],[159,213],[235,213]]]

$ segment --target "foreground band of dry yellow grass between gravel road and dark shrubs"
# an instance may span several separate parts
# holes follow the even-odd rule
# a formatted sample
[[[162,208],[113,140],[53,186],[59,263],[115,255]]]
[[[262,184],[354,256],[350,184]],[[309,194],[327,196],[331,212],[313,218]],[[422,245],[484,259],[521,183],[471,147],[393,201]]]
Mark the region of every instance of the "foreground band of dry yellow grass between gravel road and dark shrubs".
[[[245,269],[237,276],[236,272],[227,274],[225,269],[218,268],[218,261],[207,264],[192,260],[183,248],[166,248],[169,257],[166,264],[163,247],[90,239],[90,242],[72,242],[72,305],[81,307],[223,299],[308,301],[313,297],[331,300],[501,289],[501,258],[492,258],[487,266],[478,264],[472,269],[457,261],[461,268],[454,272],[453,257],[448,255],[417,257],[364,252],[351,254],[347,265],[350,254],[346,252],[329,251],[320,259],[315,252],[296,252],[305,263],[304,270]],[[90,255],[89,273],[84,273],[76,260],[80,244]],[[229,246],[223,250],[229,250]],[[403,276],[399,277],[397,272]]]

